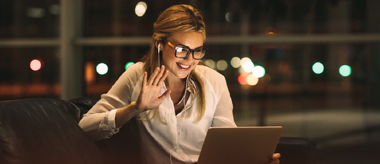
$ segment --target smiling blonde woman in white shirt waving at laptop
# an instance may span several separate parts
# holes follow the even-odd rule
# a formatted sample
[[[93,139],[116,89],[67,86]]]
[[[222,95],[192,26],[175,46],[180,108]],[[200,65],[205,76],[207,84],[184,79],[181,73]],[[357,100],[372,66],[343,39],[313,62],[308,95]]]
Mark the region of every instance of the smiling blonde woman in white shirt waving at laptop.
[[[207,49],[198,10],[171,6],[153,28],[150,52],[128,67],[79,125],[93,138],[107,139],[136,117],[143,163],[194,163],[208,128],[236,126],[230,93],[225,78],[200,62]],[[277,163],[279,154],[272,158]]]

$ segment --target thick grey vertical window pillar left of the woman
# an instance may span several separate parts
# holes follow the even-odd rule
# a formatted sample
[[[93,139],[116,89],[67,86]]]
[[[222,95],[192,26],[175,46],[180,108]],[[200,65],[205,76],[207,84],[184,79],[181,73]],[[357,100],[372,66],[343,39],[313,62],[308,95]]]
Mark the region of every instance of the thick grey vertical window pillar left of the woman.
[[[82,0],[60,1],[60,84],[61,99],[82,97],[84,77],[82,53],[75,46],[81,36]]]

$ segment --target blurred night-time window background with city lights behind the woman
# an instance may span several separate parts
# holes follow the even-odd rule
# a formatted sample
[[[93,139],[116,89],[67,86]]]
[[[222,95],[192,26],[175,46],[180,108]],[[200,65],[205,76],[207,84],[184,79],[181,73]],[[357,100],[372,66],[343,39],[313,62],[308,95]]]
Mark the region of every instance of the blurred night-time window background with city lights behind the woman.
[[[0,100],[106,93],[149,49],[158,14],[202,11],[203,61],[238,126],[283,126],[325,163],[378,163],[378,0],[0,0]]]

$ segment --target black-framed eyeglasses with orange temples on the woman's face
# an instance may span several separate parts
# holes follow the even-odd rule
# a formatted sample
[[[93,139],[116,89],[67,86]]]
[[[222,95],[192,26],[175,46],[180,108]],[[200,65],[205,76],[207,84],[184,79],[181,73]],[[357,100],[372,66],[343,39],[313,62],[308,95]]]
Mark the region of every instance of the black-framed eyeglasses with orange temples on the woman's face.
[[[169,46],[173,47],[176,50],[176,57],[177,58],[187,58],[191,52],[193,52],[193,58],[196,60],[200,60],[204,57],[204,54],[206,54],[207,49],[203,48],[196,48],[196,49],[189,49],[187,47],[181,47],[181,46],[174,46],[170,42],[166,41]]]

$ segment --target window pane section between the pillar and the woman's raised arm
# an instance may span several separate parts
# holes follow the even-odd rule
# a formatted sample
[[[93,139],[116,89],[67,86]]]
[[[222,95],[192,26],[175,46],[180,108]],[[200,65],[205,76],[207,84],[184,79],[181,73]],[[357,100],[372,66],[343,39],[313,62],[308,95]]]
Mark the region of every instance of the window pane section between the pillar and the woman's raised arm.
[[[149,46],[84,47],[86,96],[107,93],[125,68],[137,63],[148,49]]]

